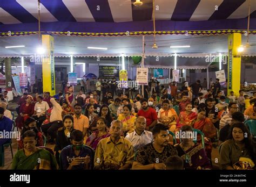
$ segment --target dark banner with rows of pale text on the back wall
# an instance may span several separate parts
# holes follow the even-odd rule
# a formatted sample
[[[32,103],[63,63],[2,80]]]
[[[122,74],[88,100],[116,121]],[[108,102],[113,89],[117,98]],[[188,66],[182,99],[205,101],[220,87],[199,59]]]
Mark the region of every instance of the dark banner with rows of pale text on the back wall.
[[[99,66],[99,78],[110,79],[119,77],[119,66]]]

